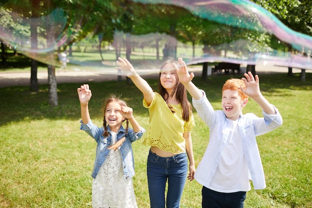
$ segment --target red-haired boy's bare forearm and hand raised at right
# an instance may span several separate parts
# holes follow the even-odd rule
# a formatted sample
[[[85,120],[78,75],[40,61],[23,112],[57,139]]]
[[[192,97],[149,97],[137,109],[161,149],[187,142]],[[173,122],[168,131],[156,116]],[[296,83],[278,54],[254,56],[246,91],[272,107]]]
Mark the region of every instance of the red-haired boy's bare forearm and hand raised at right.
[[[267,114],[276,114],[274,107],[269,103],[269,101],[262,95],[259,86],[259,76],[255,77],[249,71],[244,74],[245,77],[242,80],[245,83],[246,89],[241,87],[241,91],[243,91],[246,95],[251,97],[254,101],[256,101],[262,110]]]

